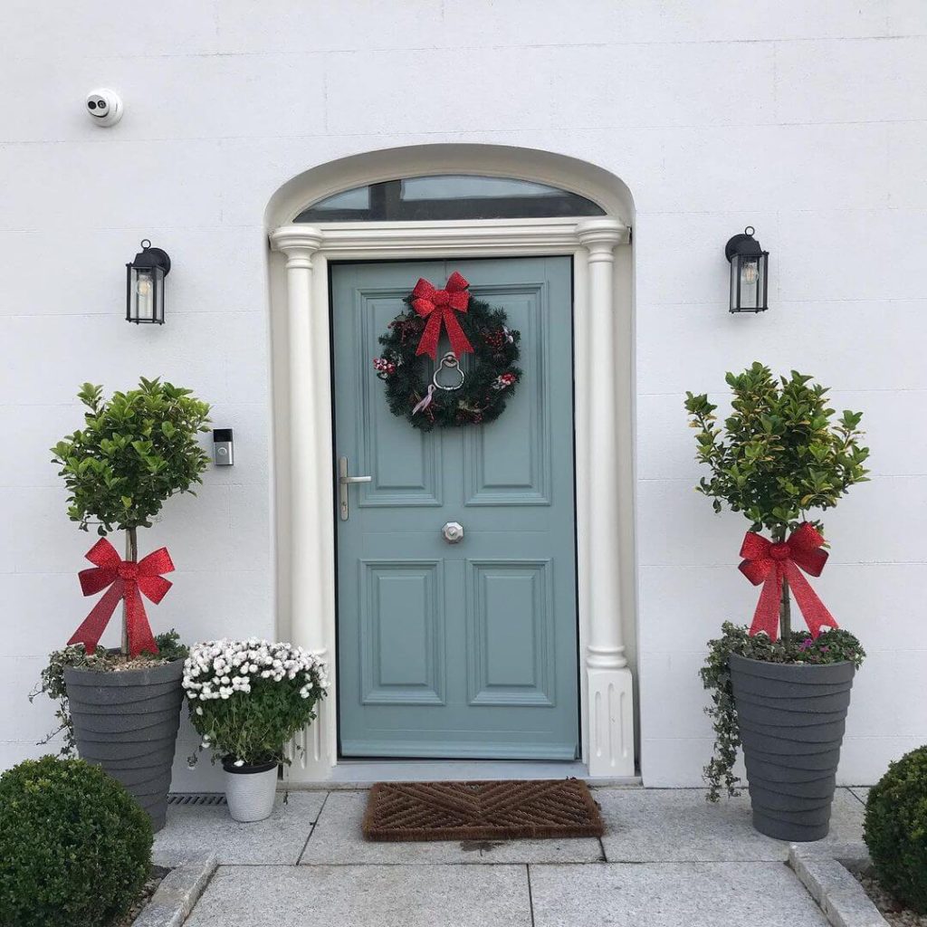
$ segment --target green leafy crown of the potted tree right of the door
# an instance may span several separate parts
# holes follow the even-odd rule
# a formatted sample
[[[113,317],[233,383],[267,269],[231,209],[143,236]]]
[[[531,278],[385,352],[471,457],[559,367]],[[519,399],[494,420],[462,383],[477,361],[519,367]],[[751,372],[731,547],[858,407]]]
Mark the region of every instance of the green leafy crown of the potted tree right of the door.
[[[723,426],[707,394],[687,392],[685,401],[695,458],[710,471],[697,489],[712,499],[716,512],[726,503],[754,530],[766,527],[782,538],[811,521],[810,510],[832,508],[866,480],[862,413],[838,415],[828,404],[828,390],[811,376],[792,371],[777,378],[756,362],[725,379],[732,399]]]

